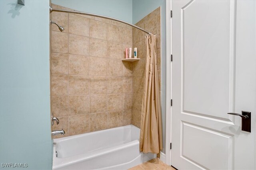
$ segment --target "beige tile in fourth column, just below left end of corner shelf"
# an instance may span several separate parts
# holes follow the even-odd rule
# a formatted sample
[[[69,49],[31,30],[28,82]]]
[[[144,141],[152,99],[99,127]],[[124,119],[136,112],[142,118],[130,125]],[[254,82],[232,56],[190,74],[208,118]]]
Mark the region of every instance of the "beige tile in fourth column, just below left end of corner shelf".
[[[122,61],[108,59],[108,76],[122,76]]]

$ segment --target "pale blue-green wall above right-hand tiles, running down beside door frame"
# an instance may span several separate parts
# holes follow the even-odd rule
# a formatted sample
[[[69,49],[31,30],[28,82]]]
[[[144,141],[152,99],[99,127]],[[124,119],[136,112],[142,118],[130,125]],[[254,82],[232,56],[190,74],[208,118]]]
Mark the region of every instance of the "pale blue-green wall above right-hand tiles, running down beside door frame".
[[[166,0],[132,0],[132,23],[135,24],[150,12],[161,6],[161,102],[163,122],[163,142],[166,132]],[[165,148],[162,150],[165,153]]]

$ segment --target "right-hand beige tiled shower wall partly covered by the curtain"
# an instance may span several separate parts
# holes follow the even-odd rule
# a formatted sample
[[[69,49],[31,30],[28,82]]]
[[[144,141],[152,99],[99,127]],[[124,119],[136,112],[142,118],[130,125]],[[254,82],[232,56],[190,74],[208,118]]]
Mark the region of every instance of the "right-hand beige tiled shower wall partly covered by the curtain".
[[[138,27],[156,34],[156,52],[157,52],[157,68],[158,78],[161,90],[161,8],[157,8],[142,20],[136,23]],[[133,107],[132,107],[132,124],[140,127],[141,120],[141,107],[143,97],[143,85],[144,85],[144,69],[146,63],[146,43],[145,35],[143,31],[132,28],[132,40],[133,47],[138,48],[138,58],[140,61],[134,62],[133,70]],[[161,91],[160,91],[161,92]]]

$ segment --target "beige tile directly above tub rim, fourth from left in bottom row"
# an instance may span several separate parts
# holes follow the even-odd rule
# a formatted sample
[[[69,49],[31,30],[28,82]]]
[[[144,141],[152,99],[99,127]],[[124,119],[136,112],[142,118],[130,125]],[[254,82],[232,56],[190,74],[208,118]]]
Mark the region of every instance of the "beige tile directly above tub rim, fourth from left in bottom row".
[[[108,112],[108,128],[119,127],[123,125],[123,111]]]

